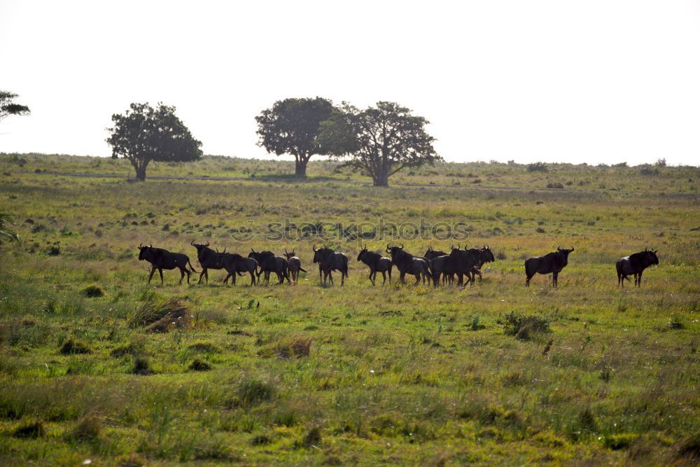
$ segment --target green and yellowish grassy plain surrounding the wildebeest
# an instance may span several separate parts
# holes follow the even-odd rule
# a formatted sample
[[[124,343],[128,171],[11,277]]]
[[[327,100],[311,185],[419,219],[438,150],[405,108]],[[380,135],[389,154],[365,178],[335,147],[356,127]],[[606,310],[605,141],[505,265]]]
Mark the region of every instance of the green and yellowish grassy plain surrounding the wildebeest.
[[[700,461],[700,169],[475,162],[390,188],[331,162],[289,172],[207,157],[148,168],[191,179],[134,183],[123,160],[0,155],[22,237],[0,246],[0,463]],[[451,230],[429,239],[437,222]],[[269,223],[292,238],[266,240]],[[311,264],[321,223],[351,260],[344,287]],[[370,223],[412,224],[398,239]],[[496,262],[466,288],[372,287],[360,244],[394,239],[489,244]],[[309,272],[148,286],[139,244],[200,270],[192,240],[296,249]],[[559,245],[575,247],[559,288],[525,288],[524,259]],[[647,246],[659,266],[619,290],[615,260]],[[167,312],[181,319],[159,327]]]

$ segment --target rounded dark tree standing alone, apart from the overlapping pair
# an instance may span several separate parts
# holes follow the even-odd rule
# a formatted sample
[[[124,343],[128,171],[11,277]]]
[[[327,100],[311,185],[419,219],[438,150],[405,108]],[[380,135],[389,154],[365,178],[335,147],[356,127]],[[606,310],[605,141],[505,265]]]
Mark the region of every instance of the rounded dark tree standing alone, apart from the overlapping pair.
[[[202,157],[202,142],[194,139],[175,115],[175,107],[159,103],[153,109],[148,102],[131,104],[125,113],[115,113],[112,122],[106,139],[112,146],[112,157],[121,155],[129,160],[141,181],[146,180],[146,167],[152,160],[190,162]]]

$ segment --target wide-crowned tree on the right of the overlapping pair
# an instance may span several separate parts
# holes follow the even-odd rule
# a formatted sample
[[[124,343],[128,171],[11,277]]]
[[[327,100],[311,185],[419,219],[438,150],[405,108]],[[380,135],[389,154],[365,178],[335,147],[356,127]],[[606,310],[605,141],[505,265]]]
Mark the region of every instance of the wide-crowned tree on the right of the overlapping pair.
[[[321,124],[318,140],[330,155],[348,156],[346,165],[368,172],[374,186],[388,186],[389,176],[404,167],[442,160],[433,148],[435,138],[425,130],[428,123],[395,102],[377,102],[365,110],[344,102]]]

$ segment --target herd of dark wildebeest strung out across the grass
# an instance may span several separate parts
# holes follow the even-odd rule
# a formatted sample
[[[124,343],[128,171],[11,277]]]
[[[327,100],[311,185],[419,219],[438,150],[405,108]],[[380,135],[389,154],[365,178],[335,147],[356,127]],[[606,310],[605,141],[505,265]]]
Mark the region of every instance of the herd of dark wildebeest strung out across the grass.
[[[209,282],[209,273],[211,270],[225,270],[228,274],[224,279],[224,284],[228,283],[229,277],[233,284],[236,284],[236,274],[244,276],[246,273],[251,276],[251,286],[260,284],[260,276],[269,284],[270,273],[274,272],[277,277],[278,284],[283,284],[284,279],[288,284],[296,284],[299,280],[300,272],[307,272],[302,267],[301,260],[296,256],[294,250],[288,252],[284,250],[283,256],[277,256],[272,251],[255,251],[251,249],[248,257],[239,255],[238,253],[227,253],[226,249],[218,251],[209,248],[209,242],[206,244],[190,242],[190,245],[197,249],[197,260],[200,262],[202,271],[200,272],[199,283],[202,279]],[[345,284],[345,278],[348,276],[348,257],[339,251],[323,246],[323,248],[312,247],[314,251],[314,264],[318,264],[318,279],[323,281],[323,284],[333,284],[333,271],[340,273],[340,285]],[[187,283],[190,283],[190,274],[197,271],[190,263],[190,258],[184,253],[172,253],[162,248],[155,248],[150,244],[144,246],[139,245],[139,260],[148,261],[151,263],[151,274],[148,276],[148,284],[151,284],[153,273],[158,270],[160,274],[160,283],[163,283],[163,270],[180,270],[180,284],[182,279],[187,274]],[[405,284],[405,276],[409,274],[416,278],[415,284],[430,284],[437,287],[438,284],[453,284],[456,281],[457,286],[464,286],[465,279],[467,284],[474,285],[477,275],[479,281],[482,278],[482,266],[495,260],[493,252],[488,245],[482,248],[462,248],[460,245],[451,246],[450,252],[437,251],[432,246],[428,246],[428,250],[423,256],[414,256],[404,249],[403,244],[400,246],[391,246],[391,243],[386,245],[385,249],[388,257],[381,256],[379,253],[367,250],[367,245],[363,246],[357,256],[358,262],[362,262],[370,268],[370,282],[376,284],[377,272],[381,272],[383,278],[382,284],[386,283],[388,275],[389,284],[391,284],[391,270],[393,267],[399,272],[399,278],[402,284]],[[559,283],[559,272],[568,264],[568,256],[574,251],[571,249],[562,249],[558,247],[556,251],[547,253],[545,256],[537,256],[525,260],[525,285],[530,285],[530,279],[535,274],[552,274],[552,286],[556,288]],[[639,253],[633,253],[630,256],[620,258],[615,263],[617,270],[617,285],[624,287],[624,280],[628,281],[629,276],[634,277],[634,285],[641,286],[642,273],[651,265],[658,265],[659,258],[656,250],[645,249]],[[189,269],[188,269],[189,266]]]

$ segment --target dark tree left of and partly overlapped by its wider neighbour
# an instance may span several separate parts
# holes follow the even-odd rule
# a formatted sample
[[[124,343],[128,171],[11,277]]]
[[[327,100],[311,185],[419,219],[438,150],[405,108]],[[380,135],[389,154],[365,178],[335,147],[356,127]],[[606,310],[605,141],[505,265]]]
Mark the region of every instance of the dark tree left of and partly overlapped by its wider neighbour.
[[[318,145],[318,132],[323,120],[330,118],[333,104],[328,99],[284,99],[272,109],[265,109],[255,117],[258,122],[258,146],[268,153],[294,156],[294,172],[306,175],[306,167],[312,155],[325,155]]]

